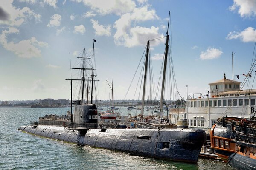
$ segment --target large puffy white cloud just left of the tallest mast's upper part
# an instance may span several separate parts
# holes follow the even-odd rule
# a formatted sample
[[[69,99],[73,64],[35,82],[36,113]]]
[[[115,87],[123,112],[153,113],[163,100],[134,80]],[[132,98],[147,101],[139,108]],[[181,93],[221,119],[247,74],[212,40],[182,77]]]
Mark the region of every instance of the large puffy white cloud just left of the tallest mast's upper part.
[[[158,19],[156,11],[148,10],[148,6],[136,8],[131,14],[123,14],[119,20],[116,20],[113,26],[116,28],[116,34],[114,35],[115,44],[133,47],[145,44],[147,40],[163,37],[163,34],[159,33],[158,27],[151,26],[151,28],[145,28],[135,26],[131,28],[132,24],[135,25],[142,21],[154,19]],[[154,41],[151,45],[157,45],[161,42],[162,41]]]

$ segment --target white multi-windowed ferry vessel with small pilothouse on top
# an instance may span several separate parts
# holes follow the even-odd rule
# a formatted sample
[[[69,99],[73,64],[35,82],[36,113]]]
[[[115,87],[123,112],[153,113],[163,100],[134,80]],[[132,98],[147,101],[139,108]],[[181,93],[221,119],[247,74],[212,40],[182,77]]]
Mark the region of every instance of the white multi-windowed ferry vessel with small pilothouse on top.
[[[209,83],[208,93],[188,94],[187,119],[189,127],[209,130],[223,116],[250,118],[255,106],[256,89],[241,90],[241,82],[226,78]]]

